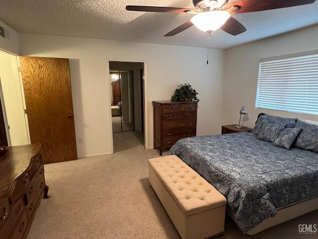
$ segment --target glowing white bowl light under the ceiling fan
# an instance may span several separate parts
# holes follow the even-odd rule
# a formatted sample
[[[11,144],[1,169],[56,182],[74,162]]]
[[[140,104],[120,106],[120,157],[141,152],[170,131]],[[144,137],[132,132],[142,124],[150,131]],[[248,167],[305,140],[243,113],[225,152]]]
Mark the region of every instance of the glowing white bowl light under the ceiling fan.
[[[211,32],[219,29],[230,16],[227,11],[207,11],[192,17],[191,22],[201,31]]]

